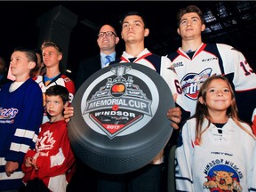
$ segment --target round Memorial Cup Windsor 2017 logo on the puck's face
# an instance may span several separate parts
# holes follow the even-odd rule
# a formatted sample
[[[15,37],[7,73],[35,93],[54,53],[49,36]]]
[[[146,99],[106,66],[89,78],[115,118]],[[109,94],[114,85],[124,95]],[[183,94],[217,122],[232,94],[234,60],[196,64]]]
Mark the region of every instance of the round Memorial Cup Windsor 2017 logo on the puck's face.
[[[137,132],[148,124],[158,103],[156,84],[144,73],[121,65],[110,68],[88,86],[81,112],[95,132],[113,139]]]

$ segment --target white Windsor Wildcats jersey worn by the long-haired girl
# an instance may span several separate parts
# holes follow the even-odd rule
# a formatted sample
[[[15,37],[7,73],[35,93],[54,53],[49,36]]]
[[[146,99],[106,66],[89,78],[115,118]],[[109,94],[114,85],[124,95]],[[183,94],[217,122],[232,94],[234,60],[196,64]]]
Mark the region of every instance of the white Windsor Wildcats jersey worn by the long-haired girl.
[[[208,121],[204,121],[203,130]],[[248,124],[243,124],[252,132]],[[255,191],[255,140],[229,118],[222,128],[210,124],[196,143],[196,118],[184,124],[175,159],[177,191]]]

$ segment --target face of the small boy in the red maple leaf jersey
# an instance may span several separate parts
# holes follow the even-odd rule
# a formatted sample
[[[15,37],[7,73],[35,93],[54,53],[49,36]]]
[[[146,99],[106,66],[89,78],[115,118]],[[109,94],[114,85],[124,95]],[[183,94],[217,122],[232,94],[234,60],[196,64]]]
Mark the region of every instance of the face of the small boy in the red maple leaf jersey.
[[[61,100],[60,96],[49,96],[46,95],[46,111],[47,113],[60,120],[63,118],[62,112],[65,106],[63,100]]]

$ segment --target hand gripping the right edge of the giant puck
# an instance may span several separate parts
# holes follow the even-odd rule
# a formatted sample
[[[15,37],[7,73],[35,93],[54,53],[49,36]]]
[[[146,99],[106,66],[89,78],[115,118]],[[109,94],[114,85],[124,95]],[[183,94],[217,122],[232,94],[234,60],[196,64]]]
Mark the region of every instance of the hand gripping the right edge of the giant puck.
[[[178,94],[175,93],[173,94],[173,100],[174,102],[177,100]],[[171,125],[173,129],[179,129],[180,121],[181,121],[181,109],[176,107],[176,108],[170,108],[167,112],[167,117],[172,121]]]

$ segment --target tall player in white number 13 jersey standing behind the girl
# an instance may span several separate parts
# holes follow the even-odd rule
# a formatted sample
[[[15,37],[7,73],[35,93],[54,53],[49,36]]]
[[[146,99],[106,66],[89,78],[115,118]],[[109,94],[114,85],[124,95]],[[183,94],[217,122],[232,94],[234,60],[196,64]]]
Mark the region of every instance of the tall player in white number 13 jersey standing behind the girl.
[[[201,33],[205,29],[202,11],[190,5],[177,14],[181,47],[168,58],[187,100],[191,115],[195,113],[201,84],[212,75],[228,77],[236,93],[239,116],[252,124],[256,108],[256,75],[241,52],[227,44],[204,44]]]

